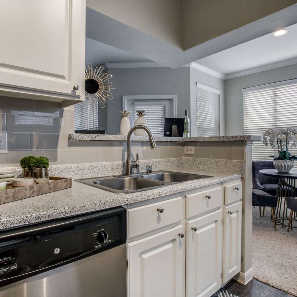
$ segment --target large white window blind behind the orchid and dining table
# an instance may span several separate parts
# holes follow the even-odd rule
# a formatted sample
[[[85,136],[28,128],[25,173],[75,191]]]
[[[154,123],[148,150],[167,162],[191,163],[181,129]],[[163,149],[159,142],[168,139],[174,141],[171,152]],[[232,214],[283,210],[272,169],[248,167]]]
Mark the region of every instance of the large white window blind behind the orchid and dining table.
[[[273,83],[243,89],[244,134],[262,135],[268,128],[297,127],[297,83]],[[290,152],[296,149],[290,149]],[[254,142],[253,160],[271,160],[277,148]]]

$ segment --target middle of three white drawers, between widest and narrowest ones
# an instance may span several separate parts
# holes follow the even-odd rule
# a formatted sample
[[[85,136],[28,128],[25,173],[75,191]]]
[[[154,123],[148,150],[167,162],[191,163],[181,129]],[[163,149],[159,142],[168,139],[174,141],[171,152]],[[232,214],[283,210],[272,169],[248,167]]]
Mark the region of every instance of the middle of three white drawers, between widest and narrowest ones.
[[[208,198],[210,195],[210,198]],[[197,192],[186,195],[186,217],[190,218],[206,211],[218,208],[222,205],[222,188]]]

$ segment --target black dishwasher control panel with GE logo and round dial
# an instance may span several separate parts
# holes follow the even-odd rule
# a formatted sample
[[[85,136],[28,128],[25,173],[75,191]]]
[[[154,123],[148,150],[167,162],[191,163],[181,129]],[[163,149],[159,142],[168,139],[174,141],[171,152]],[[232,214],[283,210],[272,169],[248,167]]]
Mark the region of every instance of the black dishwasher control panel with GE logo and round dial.
[[[101,218],[98,212],[91,221],[62,222],[58,228],[53,224],[53,228],[33,234],[18,232],[6,241],[0,233],[0,287],[8,280],[23,279],[126,243],[126,212],[122,209],[111,217]]]

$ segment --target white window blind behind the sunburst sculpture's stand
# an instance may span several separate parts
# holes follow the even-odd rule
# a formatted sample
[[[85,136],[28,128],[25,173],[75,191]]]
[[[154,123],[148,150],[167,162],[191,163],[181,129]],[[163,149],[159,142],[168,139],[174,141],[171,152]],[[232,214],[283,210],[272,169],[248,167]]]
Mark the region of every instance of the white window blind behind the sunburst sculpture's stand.
[[[74,129],[88,130],[88,109],[89,109],[89,130],[98,130],[99,108],[98,104],[92,108],[88,104],[77,103],[74,105]]]

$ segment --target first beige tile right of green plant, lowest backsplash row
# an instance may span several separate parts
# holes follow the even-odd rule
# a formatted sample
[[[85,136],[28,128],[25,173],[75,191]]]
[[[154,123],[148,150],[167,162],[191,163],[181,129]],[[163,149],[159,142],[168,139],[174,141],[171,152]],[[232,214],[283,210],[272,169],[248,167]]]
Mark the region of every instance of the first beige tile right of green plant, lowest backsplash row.
[[[97,163],[101,162],[100,149],[61,149],[61,164]]]

